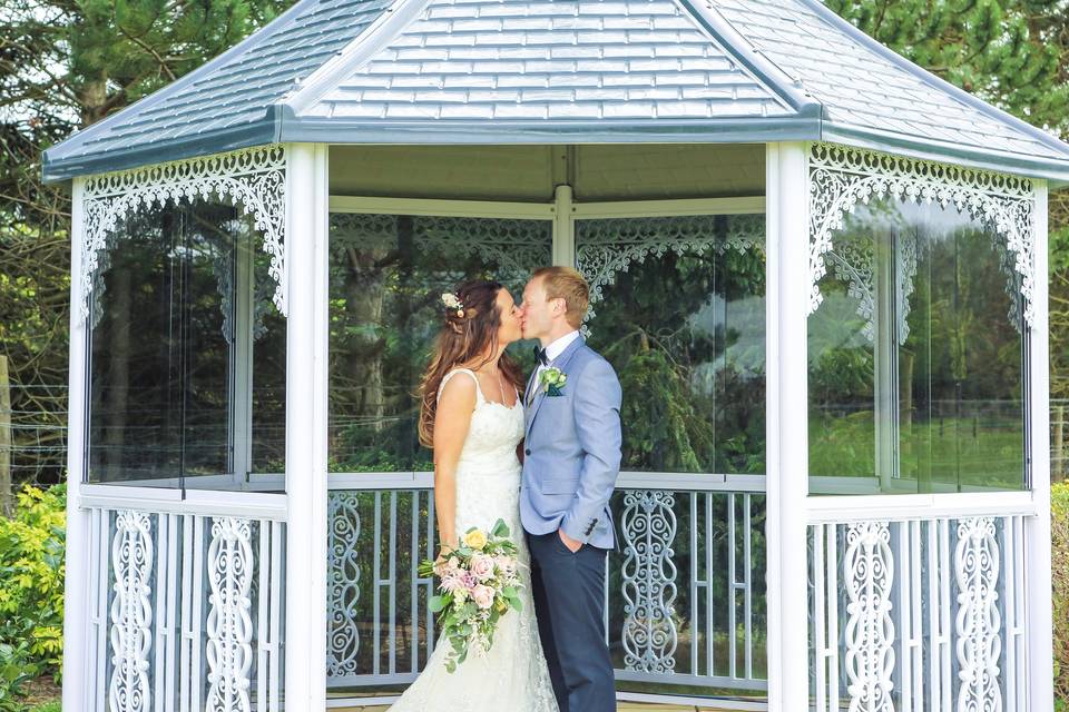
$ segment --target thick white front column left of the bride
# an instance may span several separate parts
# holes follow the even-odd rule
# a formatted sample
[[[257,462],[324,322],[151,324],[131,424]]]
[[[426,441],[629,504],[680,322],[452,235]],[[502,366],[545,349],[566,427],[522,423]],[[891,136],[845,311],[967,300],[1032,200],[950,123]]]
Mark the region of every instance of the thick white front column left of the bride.
[[[286,168],[287,710],[326,708],[327,147]]]

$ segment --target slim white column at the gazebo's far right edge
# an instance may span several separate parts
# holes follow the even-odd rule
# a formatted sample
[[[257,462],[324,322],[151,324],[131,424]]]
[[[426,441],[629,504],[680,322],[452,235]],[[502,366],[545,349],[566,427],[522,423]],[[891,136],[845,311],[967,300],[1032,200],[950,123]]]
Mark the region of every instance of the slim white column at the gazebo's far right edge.
[[[1055,709],[1053,640],[1050,592],[1050,359],[1047,304],[1047,182],[1037,181],[1036,235],[1032,240],[1036,309],[1028,335],[1029,447],[1037,515],[1024,520],[1024,572],[1028,605],[1028,709]]]

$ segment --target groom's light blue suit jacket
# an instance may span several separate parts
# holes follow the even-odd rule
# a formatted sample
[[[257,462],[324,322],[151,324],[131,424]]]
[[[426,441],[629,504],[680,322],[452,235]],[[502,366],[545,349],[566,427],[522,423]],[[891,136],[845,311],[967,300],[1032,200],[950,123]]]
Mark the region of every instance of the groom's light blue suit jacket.
[[[528,383],[520,520],[531,534],[558,528],[585,544],[612,548],[609,497],[620,472],[620,382],[580,337],[550,364],[568,380],[561,395]],[[537,369],[536,369],[537,373]]]

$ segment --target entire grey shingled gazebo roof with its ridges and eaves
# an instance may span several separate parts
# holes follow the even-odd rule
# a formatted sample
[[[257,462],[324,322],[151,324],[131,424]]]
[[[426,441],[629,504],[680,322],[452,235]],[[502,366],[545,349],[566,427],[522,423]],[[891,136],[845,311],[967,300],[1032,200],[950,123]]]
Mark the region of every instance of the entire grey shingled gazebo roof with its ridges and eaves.
[[[301,0],[46,151],[45,177],[276,141],[776,140],[1069,181],[1069,146],[817,0]]]

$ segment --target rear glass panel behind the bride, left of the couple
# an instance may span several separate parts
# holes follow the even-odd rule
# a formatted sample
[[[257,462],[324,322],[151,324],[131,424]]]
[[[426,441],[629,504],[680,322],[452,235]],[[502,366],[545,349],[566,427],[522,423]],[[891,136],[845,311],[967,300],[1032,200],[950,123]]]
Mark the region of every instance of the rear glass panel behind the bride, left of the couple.
[[[549,221],[331,216],[332,471],[432,469],[415,394],[441,326],[441,294],[493,278],[519,299],[551,249]],[[524,369],[528,350],[514,348]]]

